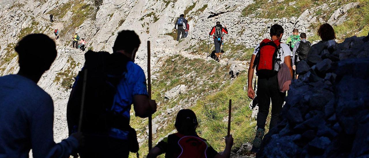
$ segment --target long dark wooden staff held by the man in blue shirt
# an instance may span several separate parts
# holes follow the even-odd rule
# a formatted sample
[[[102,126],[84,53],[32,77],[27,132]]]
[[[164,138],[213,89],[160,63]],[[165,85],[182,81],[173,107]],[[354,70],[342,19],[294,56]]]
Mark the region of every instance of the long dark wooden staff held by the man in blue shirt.
[[[150,72],[150,41],[147,41],[147,87],[149,100],[151,100],[151,72]],[[152,115],[149,116],[149,152],[152,148]]]

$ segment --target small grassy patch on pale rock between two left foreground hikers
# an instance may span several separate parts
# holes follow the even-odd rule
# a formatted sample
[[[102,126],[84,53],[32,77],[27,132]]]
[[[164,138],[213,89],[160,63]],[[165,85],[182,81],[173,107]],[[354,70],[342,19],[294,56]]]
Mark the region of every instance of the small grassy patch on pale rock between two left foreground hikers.
[[[69,66],[64,71],[56,73],[53,81],[59,83],[61,80],[60,86],[64,90],[72,88],[74,78],[77,76],[74,70],[79,65],[71,56],[68,57],[67,63],[69,63]]]

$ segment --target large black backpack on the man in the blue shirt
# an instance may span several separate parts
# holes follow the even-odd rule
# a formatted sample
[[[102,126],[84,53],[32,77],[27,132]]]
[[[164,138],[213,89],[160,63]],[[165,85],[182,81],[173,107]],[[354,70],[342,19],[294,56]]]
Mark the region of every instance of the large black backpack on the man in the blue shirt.
[[[118,83],[124,78],[128,58],[123,54],[88,51],[85,65],[79,72],[79,79],[73,87],[67,105],[69,132],[79,122],[82,99],[83,74],[87,69],[85,104],[81,131],[83,133],[107,135],[111,127],[128,130],[129,120],[111,111]],[[125,110],[124,110],[125,111]]]

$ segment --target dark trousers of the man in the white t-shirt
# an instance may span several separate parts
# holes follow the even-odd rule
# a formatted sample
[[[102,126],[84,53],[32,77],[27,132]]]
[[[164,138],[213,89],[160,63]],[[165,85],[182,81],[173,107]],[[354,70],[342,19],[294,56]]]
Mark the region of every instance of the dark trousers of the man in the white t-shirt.
[[[270,119],[269,129],[277,125],[279,114],[282,110],[284,97],[286,92],[280,92],[278,89],[277,75],[271,78],[258,79],[258,96],[259,112],[257,118],[258,128],[265,130],[266,117],[269,113],[270,100],[272,100],[272,118]]]

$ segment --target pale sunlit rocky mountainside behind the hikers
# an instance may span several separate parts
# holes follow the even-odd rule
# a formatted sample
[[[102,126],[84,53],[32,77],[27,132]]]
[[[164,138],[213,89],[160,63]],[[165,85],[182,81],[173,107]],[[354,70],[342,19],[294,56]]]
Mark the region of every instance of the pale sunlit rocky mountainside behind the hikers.
[[[346,18],[342,18],[346,12],[358,6],[359,3],[341,2],[317,3],[311,7],[300,8],[301,13],[296,13],[292,17],[276,17],[262,18],[257,16],[265,10],[252,8],[251,14],[246,14],[245,9],[250,4],[261,3],[263,1],[253,0],[224,0],[224,1],[206,1],[206,0],[3,0],[0,2],[0,74],[6,75],[16,73],[18,71],[17,54],[14,52],[14,46],[20,38],[30,33],[44,33],[50,37],[54,37],[53,30],[59,29],[60,39],[56,40],[58,57],[50,70],[47,71],[38,83],[39,86],[48,92],[55,104],[55,126],[54,137],[55,141],[61,141],[67,137],[66,128],[66,103],[68,101],[70,87],[77,72],[81,69],[84,63],[84,52],[79,49],[70,47],[72,34],[75,32],[81,38],[86,38],[88,42],[87,48],[94,51],[111,52],[111,47],[115,40],[116,34],[120,30],[134,30],[141,38],[141,47],[139,48],[136,62],[145,70],[147,63],[147,48],[146,41],[151,41],[152,50],[152,68],[154,69],[153,79],[157,82],[163,80],[171,87],[159,89],[158,92],[161,98],[165,96],[164,91],[169,91],[177,87],[171,85],[171,80],[163,76],[161,71],[167,64],[166,58],[173,55],[181,55],[178,58],[172,58],[172,62],[177,61],[196,61],[200,58],[205,58],[206,45],[208,40],[208,32],[215,25],[216,21],[221,21],[226,25],[229,34],[225,36],[225,49],[230,48],[224,54],[223,61],[218,65],[211,62],[211,74],[217,71],[225,71],[228,73],[231,67],[231,78],[238,75],[237,72],[242,72],[247,68],[248,62],[246,59],[238,59],[235,54],[244,54],[246,48],[255,47],[255,45],[263,38],[269,36],[269,28],[272,24],[278,23],[285,28],[285,36],[292,32],[293,28],[299,28],[300,32],[307,32],[308,37],[314,36],[312,26],[316,23],[323,23],[325,18],[321,18],[321,13],[318,10],[337,10],[334,14],[327,13],[330,23],[341,23]],[[325,1],[324,1],[325,2]],[[287,7],[295,7],[297,1],[278,1],[278,2],[263,2],[283,4]],[[342,8],[340,8],[342,7]],[[296,7],[295,7],[296,8]],[[175,19],[180,14],[186,14],[186,18],[190,24],[189,37],[177,42],[173,39],[176,32],[173,33]],[[54,14],[54,22],[49,21],[49,14]],[[342,16],[344,15],[344,16]],[[317,39],[314,39],[314,41]],[[211,44],[213,45],[213,44]],[[210,45],[210,48],[211,48]],[[228,46],[227,46],[228,45]],[[40,47],[42,44],[40,44]],[[239,49],[242,48],[242,49]],[[233,55],[233,56],[232,56]],[[184,58],[183,58],[184,57]],[[231,61],[230,61],[231,60]],[[203,60],[200,60],[201,62]],[[228,62],[227,62],[228,61]],[[206,62],[205,62],[206,63]],[[227,67],[229,64],[230,67]],[[190,64],[191,65],[191,64]],[[192,75],[191,75],[192,74]],[[224,85],[229,81],[230,77],[224,75],[211,83]],[[194,89],[204,86],[209,79],[204,76],[197,78],[196,71],[189,74],[183,74],[182,78],[193,78],[192,85],[180,85],[185,87],[188,99],[184,100],[173,96],[172,100],[178,100],[177,106],[168,108],[166,111],[177,111],[180,108],[191,107],[196,104],[200,97],[210,95],[216,92],[220,87],[214,90],[199,93],[193,92]],[[196,78],[195,78],[196,76]],[[216,76],[216,75],[215,75]],[[246,83],[245,83],[246,85]],[[182,89],[182,88],[181,88]],[[174,90],[175,91],[175,90]],[[170,92],[170,91],[169,91]],[[168,92],[168,94],[169,94]],[[165,94],[164,94],[165,93]],[[176,92],[175,92],[176,93]],[[182,92],[181,92],[182,93]],[[168,98],[168,97],[167,97]],[[168,99],[167,99],[168,100]],[[168,102],[163,99],[163,102]],[[181,101],[181,102],[179,102]],[[183,106],[181,106],[183,104]],[[167,109],[165,106],[162,109]],[[173,113],[167,112],[158,114],[155,123],[160,128],[166,128],[170,122],[173,122]],[[172,113],[172,115],[170,115]],[[136,120],[135,120],[136,121]],[[141,121],[139,121],[141,122]],[[138,130],[139,140],[146,140],[146,127]]]

